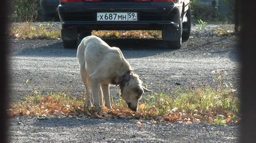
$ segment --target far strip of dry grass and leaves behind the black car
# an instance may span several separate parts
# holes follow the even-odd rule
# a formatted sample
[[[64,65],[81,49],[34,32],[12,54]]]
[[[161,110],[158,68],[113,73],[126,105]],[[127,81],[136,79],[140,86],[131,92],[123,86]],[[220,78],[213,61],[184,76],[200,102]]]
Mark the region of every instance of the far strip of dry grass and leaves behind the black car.
[[[208,25],[207,22],[198,20],[198,32],[201,32]],[[93,31],[92,35],[100,38],[135,38],[135,39],[161,39],[162,32],[160,30],[100,30]],[[219,36],[234,36],[234,30],[216,29],[214,34]],[[9,38],[15,39],[61,39],[60,29],[52,28],[51,23],[44,25],[32,25],[30,22],[21,24],[12,24],[8,33]]]

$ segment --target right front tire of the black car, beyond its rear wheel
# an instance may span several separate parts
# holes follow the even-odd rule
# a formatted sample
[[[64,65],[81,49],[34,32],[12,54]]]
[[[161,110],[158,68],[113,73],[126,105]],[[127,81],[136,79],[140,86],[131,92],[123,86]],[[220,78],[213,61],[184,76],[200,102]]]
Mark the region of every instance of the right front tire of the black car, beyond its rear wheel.
[[[186,13],[188,21],[182,24],[182,40],[188,40],[191,32],[191,6],[189,4],[188,11]]]

